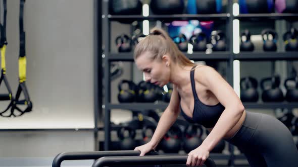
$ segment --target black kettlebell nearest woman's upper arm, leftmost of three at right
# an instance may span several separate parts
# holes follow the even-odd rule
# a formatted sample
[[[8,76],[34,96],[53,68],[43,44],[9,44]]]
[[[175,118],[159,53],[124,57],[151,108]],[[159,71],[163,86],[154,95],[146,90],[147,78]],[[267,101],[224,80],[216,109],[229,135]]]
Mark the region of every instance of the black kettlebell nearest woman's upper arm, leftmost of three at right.
[[[242,102],[257,102],[259,93],[257,91],[258,80],[251,76],[240,79],[240,99]]]

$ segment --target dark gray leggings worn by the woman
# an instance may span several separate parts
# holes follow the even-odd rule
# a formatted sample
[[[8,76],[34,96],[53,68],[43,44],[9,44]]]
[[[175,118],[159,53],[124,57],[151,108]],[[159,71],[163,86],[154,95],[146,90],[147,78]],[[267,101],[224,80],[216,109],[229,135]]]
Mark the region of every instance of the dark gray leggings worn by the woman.
[[[273,116],[246,113],[242,127],[227,141],[244,153],[252,167],[297,167],[298,150],[287,127]]]

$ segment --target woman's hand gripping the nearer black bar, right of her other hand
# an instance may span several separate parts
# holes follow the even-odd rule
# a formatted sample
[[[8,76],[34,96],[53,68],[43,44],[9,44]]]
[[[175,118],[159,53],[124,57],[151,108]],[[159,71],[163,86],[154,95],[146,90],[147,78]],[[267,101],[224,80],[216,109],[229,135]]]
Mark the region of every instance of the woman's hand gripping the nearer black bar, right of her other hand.
[[[209,151],[201,145],[188,153],[186,165],[201,166],[208,157]]]

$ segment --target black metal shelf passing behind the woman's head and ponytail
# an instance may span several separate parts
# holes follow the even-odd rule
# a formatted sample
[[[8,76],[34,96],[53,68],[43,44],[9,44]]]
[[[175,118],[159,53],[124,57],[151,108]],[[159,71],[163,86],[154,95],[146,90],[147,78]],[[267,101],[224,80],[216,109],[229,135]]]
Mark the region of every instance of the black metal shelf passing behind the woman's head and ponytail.
[[[213,52],[206,54],[205,52],[193,52],[192,54],[185,53],[186,57],[191,60],[229,60],[230,52]],[[110,53],[107,56],[109,61],[133,61],[133,53]]]

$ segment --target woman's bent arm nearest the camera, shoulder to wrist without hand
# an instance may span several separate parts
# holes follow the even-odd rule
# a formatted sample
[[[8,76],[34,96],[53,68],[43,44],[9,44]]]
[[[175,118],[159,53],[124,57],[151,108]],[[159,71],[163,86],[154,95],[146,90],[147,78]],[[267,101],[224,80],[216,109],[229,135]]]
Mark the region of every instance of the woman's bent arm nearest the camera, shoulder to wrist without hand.
[[[200,72],[195,72],[195,79],[206,86],[225,107],[213,130],[200,146],[210,152],[239,121],[244,106],[233,88],[214,68],[210,66],[201,67]]]

